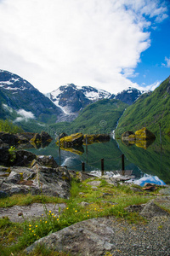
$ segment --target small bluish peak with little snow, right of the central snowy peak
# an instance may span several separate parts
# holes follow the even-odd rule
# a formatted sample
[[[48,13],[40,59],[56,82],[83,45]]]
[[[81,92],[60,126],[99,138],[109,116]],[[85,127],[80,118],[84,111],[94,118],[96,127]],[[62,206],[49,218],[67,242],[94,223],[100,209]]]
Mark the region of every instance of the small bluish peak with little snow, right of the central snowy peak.
[[[120,100],[122,102],[127,103],[128,105],[132,105],[144,91],[138,90],[133,87],[128,87],[127,90],[122,90],[122,92],[117,93],[114,97],[116,100]],[[111,97],[112,98],[112,97]]]

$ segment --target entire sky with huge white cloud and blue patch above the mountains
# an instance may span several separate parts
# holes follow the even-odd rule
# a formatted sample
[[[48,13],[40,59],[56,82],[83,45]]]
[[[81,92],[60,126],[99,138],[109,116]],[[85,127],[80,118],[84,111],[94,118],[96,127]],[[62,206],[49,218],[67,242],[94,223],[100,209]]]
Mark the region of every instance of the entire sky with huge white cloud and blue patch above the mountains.
[[[170,75],[170,0],[0,0],[0,69],[42,93],[154,90]]]

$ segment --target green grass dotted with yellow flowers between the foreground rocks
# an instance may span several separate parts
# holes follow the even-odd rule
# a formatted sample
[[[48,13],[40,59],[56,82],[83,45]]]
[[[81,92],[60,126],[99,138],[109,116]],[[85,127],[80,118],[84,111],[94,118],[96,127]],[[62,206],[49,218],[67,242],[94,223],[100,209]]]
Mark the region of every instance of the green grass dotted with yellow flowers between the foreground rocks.
[[[133,192],[127,185],[113,186],[106,183],[105,179],[95,178],[100,184],[95,189],[89,185],[88,179],[79,182],[73,179],[71,183],[71,197],[69,200],[48,197],[45,195],[13,195],[10,198],[0,200],[0,207],[12,207],[14,205],[29,205],[33,202],[44,204],[45,214],[40,218],[27,220],[22,224],[10,222],[5,217],[0,219],[0,250],[1,255],[25,255],[24,249],[43,236],[61,230],[77,222],[104,216],[115,216],[116,218],[126,218],[130,223],[144,224],[144,218],[141,218],[136,212],[127,212],[124,208],[133,204],[142,204],[149,201],[149,197],[144,196],[143,192]],[[63,212],[55,216],[54,212],[48,211],[45,203],[65,203]],[[84,207],[82,202],[87,202]],[[43,248],[41,251],[37,247],[35,254],[31,255],[69,255],[66,253],[57,253],[53,250],[48,251]],[[12,253],[12,254],[11,254]]]

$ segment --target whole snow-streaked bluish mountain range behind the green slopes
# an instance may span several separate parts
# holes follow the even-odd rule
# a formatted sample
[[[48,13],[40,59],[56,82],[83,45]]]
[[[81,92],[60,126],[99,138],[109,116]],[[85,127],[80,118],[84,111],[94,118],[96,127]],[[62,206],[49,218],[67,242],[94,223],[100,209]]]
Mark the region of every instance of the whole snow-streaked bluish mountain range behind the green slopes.
[[[0,118],[5,118],[11,108],[21,119],[26,117],[45,123],[72,121],[88,104],[102,99],[118,99],[132,104],[141,93],[128,88],[115,96],[92,86],[65,84],[44,96],[20,76],[0,70]]]

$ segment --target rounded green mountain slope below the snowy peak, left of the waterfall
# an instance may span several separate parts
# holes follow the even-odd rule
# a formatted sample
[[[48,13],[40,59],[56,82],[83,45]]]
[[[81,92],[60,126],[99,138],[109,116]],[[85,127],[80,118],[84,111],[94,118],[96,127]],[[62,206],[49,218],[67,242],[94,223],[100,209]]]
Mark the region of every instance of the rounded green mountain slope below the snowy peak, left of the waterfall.
[[[88,105],[71,123],[71,131],[82,133],[110,133],[127,104],[118,100],[101,100]],[[73,133],[73,132],[72,132]]]

